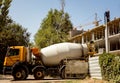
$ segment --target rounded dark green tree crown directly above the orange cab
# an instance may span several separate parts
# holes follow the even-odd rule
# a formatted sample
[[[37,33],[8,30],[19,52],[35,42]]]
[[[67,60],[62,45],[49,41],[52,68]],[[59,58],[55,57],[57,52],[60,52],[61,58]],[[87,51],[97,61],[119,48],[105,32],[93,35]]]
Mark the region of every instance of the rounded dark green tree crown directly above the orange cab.
[[[21,25],[12,23],[4,27],[0,33],[0,41],[7,46],[24,45],[27,46],[29,42],[30,33]],[[3,42],[4,41],[4,42]]]

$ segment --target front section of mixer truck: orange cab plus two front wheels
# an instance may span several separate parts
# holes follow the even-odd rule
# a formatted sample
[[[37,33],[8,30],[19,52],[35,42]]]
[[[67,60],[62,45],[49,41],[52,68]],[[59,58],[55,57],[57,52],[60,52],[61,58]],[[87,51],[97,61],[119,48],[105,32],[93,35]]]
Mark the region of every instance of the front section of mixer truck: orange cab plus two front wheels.
[[[32,54],[35,58],[32,58]],[[9,47],[4,60],[3,74],[11,74],[15,80],[24,80],[29,74],[33,74],[35,79],[43,78],[42,71],[37,71],[43,69],[39,54],[37,48]]]

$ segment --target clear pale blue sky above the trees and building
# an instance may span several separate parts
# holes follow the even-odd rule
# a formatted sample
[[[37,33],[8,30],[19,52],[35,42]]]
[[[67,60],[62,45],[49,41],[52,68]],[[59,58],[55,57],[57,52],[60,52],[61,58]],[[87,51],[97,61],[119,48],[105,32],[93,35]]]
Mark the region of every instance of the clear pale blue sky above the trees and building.
[[[61,10],[61,0],[12,0],[9,16],[18,24],[28,29],[31,33],[30,40],[40,28],[42,20],[50,9]],[[91,29],[97,13],[98,20],[104,23],[105,11],[110,11],[110,19],[120,18],[120,0],[65,0],[64,11],[70,16],[74,27],[85,24],[86,29]]]

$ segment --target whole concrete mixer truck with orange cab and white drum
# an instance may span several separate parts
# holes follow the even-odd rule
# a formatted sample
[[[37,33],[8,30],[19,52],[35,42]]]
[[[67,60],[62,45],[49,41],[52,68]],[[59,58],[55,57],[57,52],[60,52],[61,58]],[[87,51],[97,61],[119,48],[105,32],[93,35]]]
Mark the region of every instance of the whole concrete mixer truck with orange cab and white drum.
[[[85,78],[88,54],[93,51],[87,44],[58,43],[41,50],[11,46],[6,53],[3,73],[11,74],[15,80],[24,80],[30,74],[37,80],[48,75],[62,79]]]

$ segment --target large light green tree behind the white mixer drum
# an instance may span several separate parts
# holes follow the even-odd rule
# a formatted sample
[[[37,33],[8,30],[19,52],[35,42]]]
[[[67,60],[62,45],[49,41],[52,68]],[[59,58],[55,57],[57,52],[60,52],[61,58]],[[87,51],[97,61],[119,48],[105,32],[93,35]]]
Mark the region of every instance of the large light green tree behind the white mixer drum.
[[[36,45],[43,48],[51,44],[67,41],[68,32],[72,29],[69,18],[68,13],[51,9],[35,35]]]

